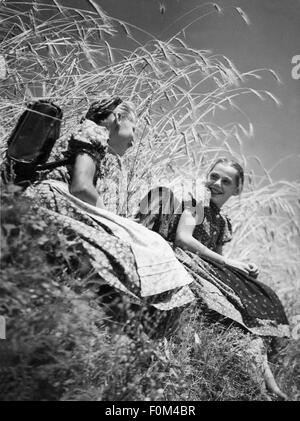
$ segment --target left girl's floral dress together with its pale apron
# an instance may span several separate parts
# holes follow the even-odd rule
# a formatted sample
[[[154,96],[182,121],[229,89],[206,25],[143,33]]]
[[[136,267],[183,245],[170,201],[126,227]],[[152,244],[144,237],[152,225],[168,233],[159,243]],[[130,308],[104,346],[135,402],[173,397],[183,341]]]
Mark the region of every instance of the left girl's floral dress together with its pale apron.
[[[95,136],[98,138],[96,141],[94,140]],[[72,158],[73,161],[80,154],[88,154],[94,160],[96,164],[95,185],[106,173],[105,163],[111,163],[109,154],[106,154],[107,138],[108,133],[105,128],[92,122],[86,122],[81,124],[70,136],[67,152],[64,153],[64,156]],[[58,156],[58,158],[60,157]],[[191,276],[178,262],[169,244],[160,236],[155,234],[159,242],[163,242],[168,247],[171,254],[171,260],[165,261],[163,264],[157,261],[161,260],[160,256],[154,261],[155,256],[159,255],[157,249],[154,253],[152,248],[151,255],[150,237],[147,235],[152,236],[151,241],[153,241],[154,233],[131,221],[132,227],[136,226],[137,244],[141,230],[144,236],[142,245],[146,244],[146,247],[143,248],[146,259],[143,259],[143,274],[141,274],[141,266],[137,265],[134,247],[131,243],[120,238],[107,224],[99,222],[99,219],[91,215],[91,212],[88,211],[90,205],[77,200],[82,203],[82,205],[78,205],[69,192],[64,194],[58,191],[58,181],[63,181],[62,184],[67,186],[65,182],[72,177],[72,170],[73,166],[70,164],[68,168],[59,168],[57,171],[51,172],[47,179],[28,188],[26,195],[32,198],[36,211],[46,221],[55,222],[55,226],[58,224],[67,236],[76,238],[78,250],[82,254],[81,259],[85,260],[87,257],[95,270],[93,282],[91,279],[87,279],[88,284],[98,287],[99,294],[105,292],[116,298],[115,292],[118,291],[118,293],[121,292],[121,298],[126,296],[133,304],[138,304],[140,307],[151,306],[160,311],[178,308],[195,300],[194,294],[188,287],[192,282]],[[97,208],[90,207],[96,212]],[[168,265],[172,266],[168,269]],[[180,271],[182,271],[181,278],[178,276]],[[174,275],[170,276],[172,272]],[[149,279],[149,282],[145,284],[143,279]]]

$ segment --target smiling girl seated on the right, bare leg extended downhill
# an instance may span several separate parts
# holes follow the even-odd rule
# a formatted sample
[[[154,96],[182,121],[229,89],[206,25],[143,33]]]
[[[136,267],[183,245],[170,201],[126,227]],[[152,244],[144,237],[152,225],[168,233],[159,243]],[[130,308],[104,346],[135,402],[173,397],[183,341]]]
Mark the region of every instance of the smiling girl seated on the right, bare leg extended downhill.
[[[152,197],[159,201],[156,209],[160,212],[150,215],[141,209],[140,221],[173,244],[176,257],[194,278],[189,289],[196,302],[204,304],[217,320],[233,322],[253,334],[249,352],[260,365],[265,384],[273,393],[286,398],[272,375],[266,341],[262,340],[289,337],[283,306],[275,292],[256,279],[259,270],[254,263],[222,255],[223,245],[232,238],[232,229],[221,208],[230,197],[242,192],[243,185],[243,168],[226,158],[218,159],[206,177],[205,186],[210,193],[207,205],[194,200],[193,206],[183,205],[181,215],[165,215],[164,202],[172,198],[175,203],[176,199],[170,191],[160,190],[157,195],[152,191]],[[143,203],[146,202],[142,201],[141,206]]]

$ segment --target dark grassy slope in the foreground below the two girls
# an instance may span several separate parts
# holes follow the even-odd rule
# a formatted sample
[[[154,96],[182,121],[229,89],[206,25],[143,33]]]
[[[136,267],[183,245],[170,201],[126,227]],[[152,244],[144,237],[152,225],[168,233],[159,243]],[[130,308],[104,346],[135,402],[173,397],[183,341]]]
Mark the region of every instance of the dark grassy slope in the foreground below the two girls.
[[[0,348],[1,399],[260,397],[240,332],[185,314],[181,333],[149,339],[127,311],[128,335],[125,323],[116,325],[97,305],[96,291],[84,287],[74,242],[47,226],[18,192],[6,192],[2,205],[0,309],[8,339]]]

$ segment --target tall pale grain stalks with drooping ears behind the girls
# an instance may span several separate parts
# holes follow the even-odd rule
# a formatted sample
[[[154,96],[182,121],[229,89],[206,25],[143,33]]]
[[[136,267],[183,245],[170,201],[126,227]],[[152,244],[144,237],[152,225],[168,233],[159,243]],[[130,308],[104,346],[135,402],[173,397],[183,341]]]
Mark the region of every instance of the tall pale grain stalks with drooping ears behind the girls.
[[[135,102],[139,120],[134,148],[107,174],[123,198],[117,212],[131,216],[142,193],[162,180],[200,179],[218,156],[238,159],[246,168],[246,186],[228,206],[235,235],[225,252],[258,262],[262,279],[278,292],[293,320],[300,314],[299,181],[274,181],[258,158],[263,176],[248,169],[243,144],[254,136],[254,127],[236,101],[251,95],[278,105],[271,92],[251,87],[264,73],[274,83],[277,75],[271,69],[242,73],[224,56],[191,48],[186,33],[193,21],[162,40],[108,16],[94,1],[89,4],[87,11],[58,0],[1,3],[2,154],[26,101],[47,98],[62,106],[64,136],[55,157],[90,102],[118,95]],[[195,19],[220,12],[207,3],[196,8]],[[126,47],[119,47],[120,37],[126,37]],[[230,122],[232,112],[238,112],[237,122]],[[225,126],[216,123],[219,113],[228,115]],[[112,206],[115,192],[108,187],[99,189]]]

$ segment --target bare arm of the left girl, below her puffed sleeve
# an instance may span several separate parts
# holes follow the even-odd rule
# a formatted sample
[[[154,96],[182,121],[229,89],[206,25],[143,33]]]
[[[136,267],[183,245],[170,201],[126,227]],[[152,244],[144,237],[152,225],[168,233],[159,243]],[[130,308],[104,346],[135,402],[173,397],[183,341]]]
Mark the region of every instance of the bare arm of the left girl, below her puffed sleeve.
[[[93,184],[95,171],[94,160],[88,154],[79,154],[74,163],[70,193],[90,205],[104,208],[103,201]]]

